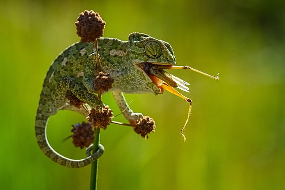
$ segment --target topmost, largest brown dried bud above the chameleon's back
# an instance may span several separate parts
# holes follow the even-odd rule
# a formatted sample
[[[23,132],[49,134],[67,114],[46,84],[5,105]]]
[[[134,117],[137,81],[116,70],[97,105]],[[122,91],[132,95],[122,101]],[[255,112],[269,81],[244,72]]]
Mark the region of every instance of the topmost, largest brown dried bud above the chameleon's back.
[[[84,11],[79,14],[75,22],[77,35],[81,37],[81,42],[94,42],[103,36],[105,21],[94,11]]]

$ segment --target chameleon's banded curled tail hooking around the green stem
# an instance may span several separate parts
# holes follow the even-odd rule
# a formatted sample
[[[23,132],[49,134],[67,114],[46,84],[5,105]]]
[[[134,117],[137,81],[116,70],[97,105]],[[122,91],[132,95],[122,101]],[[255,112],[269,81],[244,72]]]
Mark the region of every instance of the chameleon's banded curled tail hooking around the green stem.
[[[101,144],[99,144],[99,149],[96,151],[96,153],[93,153],[87,158],[81,160],[72,160],[58,154],[51,147],[47,138],[47,123],[49,117],[50,115],[42,113],[40,109],[37,110],[35,119],[35,136],[40,149],[42,149],[45,155],[47,155],[47,157],[49,157],[51,160],[66,167],[81,168],[91,164],[103,154],[104,147]]]

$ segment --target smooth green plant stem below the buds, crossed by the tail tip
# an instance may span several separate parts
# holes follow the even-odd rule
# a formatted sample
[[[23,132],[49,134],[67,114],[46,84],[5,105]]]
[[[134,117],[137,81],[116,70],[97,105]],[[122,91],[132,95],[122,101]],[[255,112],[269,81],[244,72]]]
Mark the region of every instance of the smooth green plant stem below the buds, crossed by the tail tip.
[[[95,153],[98,150],[99,141],[100,141],[100,128],[95,130],[94,142],[93,142],[93,153]],[[90,179],[90,189],[91,190],[97,189],[98,166],[99,166],[98,160],[93,162],[91,166],[91,179]]]

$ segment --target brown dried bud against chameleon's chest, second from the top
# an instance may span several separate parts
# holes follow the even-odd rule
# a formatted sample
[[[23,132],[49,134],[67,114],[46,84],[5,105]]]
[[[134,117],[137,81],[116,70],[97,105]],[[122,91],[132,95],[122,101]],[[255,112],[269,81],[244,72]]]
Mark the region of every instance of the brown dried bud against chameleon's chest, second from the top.
[[[114,80],[110,77],[109,73],[99,72],[94,80],[94,88],[96,91],[108,92],[112,88]]]

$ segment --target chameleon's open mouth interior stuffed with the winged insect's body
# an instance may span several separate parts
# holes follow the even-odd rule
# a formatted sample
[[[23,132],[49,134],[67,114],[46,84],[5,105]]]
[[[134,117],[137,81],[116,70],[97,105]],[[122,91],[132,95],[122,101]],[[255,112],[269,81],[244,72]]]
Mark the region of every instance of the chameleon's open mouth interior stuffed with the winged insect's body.
[[[152,82],[160,89],[161,92],[164,92],[164,89],[174,93],[173,88],[179,88],[185,92],[189,92],[189,88],[186,85],[190,85],[189,83],[175,77],[164,69],[158,68],[160,64],[152,64],[149,62],[140,63],[139,67],[145,71],[145,73],[149,76]],[[164,65],[165,69],[169,69],[173,65]],[[172,88],[171,88],[172,87]],[[175,93],[176,94],[176,93]],[[176,94],[177,95],[177,94]]]

